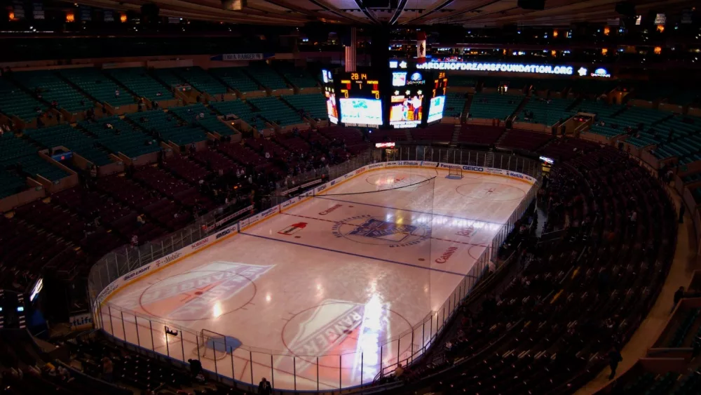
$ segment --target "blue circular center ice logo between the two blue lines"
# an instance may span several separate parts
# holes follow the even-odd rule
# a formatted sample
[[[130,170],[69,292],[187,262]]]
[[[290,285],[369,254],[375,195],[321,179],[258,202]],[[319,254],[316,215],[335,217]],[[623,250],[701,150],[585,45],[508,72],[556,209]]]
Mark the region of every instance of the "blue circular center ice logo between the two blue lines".
[[[430,229],[420,223],[404,224],[382,217],[358,215],[336,222],[332,227],[336,237],[356,243],[390,247],[414,246],[430,239]]]

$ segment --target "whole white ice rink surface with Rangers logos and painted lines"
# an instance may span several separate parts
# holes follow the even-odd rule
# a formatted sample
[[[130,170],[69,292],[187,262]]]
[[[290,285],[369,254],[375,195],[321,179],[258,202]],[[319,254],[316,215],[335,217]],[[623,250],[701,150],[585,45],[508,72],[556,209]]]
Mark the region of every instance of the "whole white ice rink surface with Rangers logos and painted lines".
[[[205,369],[243,382],[372,381],[380,366],[428,344],[442,326],[431,312],[468,285],[531,189],[486,173],[446,175],[360,174],[118,290],[102,307],[103,326],[175,359],[200,356]]]

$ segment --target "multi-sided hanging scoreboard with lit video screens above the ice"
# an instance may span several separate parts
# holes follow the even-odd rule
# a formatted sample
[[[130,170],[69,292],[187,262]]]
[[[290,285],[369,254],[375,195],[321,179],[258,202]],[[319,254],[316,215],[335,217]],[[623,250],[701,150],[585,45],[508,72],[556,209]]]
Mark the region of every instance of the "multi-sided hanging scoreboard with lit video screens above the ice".
[[[445,72],[411,69],[322,70],[329,121],[367,128],[416,128],[440,121]]]

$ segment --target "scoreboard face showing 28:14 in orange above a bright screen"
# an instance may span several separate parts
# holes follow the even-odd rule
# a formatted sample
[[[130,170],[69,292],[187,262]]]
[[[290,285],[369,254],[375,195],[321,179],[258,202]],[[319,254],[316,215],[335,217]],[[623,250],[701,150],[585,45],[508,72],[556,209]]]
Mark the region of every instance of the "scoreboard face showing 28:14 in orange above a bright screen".
[[[339,78],[341,122],[346,126],[384,124],[380,79],[364,72],[342,73]]]

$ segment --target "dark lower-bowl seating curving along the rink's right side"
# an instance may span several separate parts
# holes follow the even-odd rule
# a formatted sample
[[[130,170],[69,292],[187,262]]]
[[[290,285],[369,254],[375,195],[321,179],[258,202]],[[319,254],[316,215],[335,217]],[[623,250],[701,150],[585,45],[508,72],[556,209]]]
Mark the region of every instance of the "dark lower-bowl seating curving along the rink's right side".
[[[543,195],[546,232],[565,229],[563,236],[531,251],[498,300],[462,307],[447,346],[437,351],[442,357],[416,367],[416,376],[428,377],[409,379],[412,389],[569,392],[606,366],[603,356],[632,335],[655,302],[675,241],[664,189],[615,149],[568,162],[556,163]],[[625,208],[641,214],[637,222],[620,215]],[[443,359],[454,366],[445,369]]]

